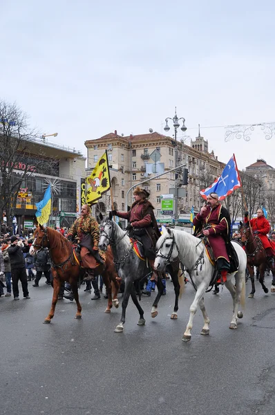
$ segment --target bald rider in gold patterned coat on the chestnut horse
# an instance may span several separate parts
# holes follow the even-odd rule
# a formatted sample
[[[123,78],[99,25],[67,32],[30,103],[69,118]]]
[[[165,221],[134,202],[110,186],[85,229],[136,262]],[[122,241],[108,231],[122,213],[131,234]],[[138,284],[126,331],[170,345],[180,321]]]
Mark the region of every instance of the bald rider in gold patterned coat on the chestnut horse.
[[[77,239],[77,243],[81,248],[82,264],[86,268],[84,281],[92,281],[95,275],[94,269],[99,264],[104,264],[104,261],[102,261],[98,250],[99,225],[95,218],[91,216],[90,206],[82,206],[81,216],[70,227],[67,238],[69,241]]]

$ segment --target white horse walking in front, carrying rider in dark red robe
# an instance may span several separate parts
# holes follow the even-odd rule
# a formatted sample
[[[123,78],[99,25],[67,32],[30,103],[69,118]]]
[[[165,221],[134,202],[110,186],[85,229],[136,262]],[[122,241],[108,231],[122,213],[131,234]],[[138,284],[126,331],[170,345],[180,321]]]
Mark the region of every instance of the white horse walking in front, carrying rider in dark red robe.
[[[239,304],[243,308],[245,306],[245,268],[247,266],[247,255],[245,251],[237,242],[233,243],[238,255],[239,267],[236,273],[227,275],[227,282],[225,283],[233,299],[234,314],[229,329],[237,329],[237,317],[243,317],[243,313],[238,311],[238,306]],[[189,322],[183,334],[182,341],[188,342],[191,340],[193,317],[198,309],[198,305],[205,320],[200,334],[208,335],[210,320],[205,310],[203,295],[211,282],[214,266],[209,261],[205,245],[200,239],[193,237],[187,232],[168,228],[160,239],[158,239],[156,248],[155,268],[161,270],[166,264],[166,261],[171,261],[173,258],[179,257],[182,264],[187,268],[191,282],[193,282],[193,286],[196,289],[196,295],[190,307]],[[232,282],[233,277],[235,277],[235,284]]]

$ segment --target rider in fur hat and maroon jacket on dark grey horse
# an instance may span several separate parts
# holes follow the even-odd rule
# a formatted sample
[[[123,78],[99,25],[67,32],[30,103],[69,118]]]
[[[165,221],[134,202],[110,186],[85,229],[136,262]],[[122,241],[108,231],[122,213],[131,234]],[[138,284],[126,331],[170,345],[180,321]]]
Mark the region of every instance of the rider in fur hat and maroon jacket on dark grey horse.
[[[133,192],[135,202],[131,206],[129,212],[112,211],[113,216],[118,216],[129,221],[126,230],[129,236],[140,240],[144,248],[144,256],[148,259],[153,275],[151,280],[157,281],[158,273],[154,269],[155,262],[155,244],[160,237],[158,223],[153,213],[153,205],[147,200],[150,196],[149,192],[140,187],[135,187]]]

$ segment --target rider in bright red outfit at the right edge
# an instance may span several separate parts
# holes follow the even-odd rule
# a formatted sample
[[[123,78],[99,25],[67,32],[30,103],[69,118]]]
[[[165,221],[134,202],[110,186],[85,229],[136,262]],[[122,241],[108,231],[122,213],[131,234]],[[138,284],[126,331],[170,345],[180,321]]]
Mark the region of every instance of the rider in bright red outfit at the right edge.
[[[248,222],[248,214],[249,212],[245,212],[245,223]],[[275,252],[272,249],[272,245],[269,239],[267,238],[267,234],[270,231],[270,225],[269,225],[269,221],[265,219],[263,209],[258,208],[257,217],[254,219],[250,219],[250,224],[252,226],[253,233],[258,235],[258,237],[263,243],[263,248],[265,248],[267,259],[272,258]]]

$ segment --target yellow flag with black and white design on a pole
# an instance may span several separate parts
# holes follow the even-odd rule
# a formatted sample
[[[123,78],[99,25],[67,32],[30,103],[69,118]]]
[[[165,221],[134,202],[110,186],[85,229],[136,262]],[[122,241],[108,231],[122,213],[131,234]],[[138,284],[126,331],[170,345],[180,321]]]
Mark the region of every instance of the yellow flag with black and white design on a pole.
[[[111,187],[107,151],[99,158],[97,165],[90,176],[86,178],[86,183],[90,185],[87,189],[87,203],[92,205],[102,194],[108,192]]]

